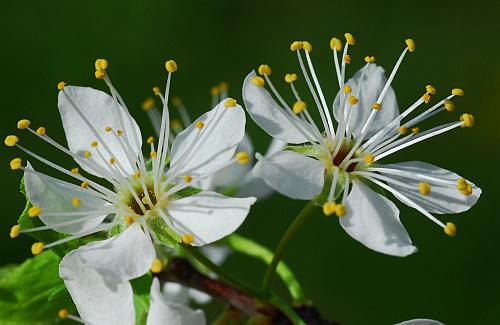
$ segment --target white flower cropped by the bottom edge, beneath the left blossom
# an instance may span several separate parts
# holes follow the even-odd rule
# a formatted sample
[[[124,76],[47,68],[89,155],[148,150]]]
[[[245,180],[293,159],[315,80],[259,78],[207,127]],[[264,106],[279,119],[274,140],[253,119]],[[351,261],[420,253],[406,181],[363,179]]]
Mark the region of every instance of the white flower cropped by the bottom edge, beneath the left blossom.
[[[114,310],[108,310],[105,308],[96,309],[90,317],[92,321],[88,321],[87,319],[85,319],[84,321],[84,319],[81,319],[80,317],[75,315],[71,315],[67,310],[64,309],[59,312],[59,317],[62,319],[71,319],[73,321],[89,325],[111,323],[119,324],[115,320],[115,318],[111,317],[120,317],[120,319],[125,324],[134,324],[135,311],[133,309],[133,303],[129,307],[132,308],[131,312],[127,312],[125,315],[115,313]],[[160,291],[160,282],[157,278],[153,279],[149,297],[149,311],[146,320],[147,325],[205,325],[206,323],[207,321],[205,319],[205,314],[203,313],[203,311],[192,310],[182,304],[175,304],[166,300],[166,297]]]

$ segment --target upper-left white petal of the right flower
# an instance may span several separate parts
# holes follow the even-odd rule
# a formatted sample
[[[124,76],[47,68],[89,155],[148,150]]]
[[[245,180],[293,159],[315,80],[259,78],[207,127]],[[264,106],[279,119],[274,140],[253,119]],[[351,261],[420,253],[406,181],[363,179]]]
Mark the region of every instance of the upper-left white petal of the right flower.
[[[283,142],[299,144],[314,139],[310,127],[305,128],[308,136],[304,136],[303,132],[297,128],[297,125],[286,118],[285,114],[289,113],[276,103],[266,88],[257,87],[252,83],[255,76],[255,72],[252,71],[243,82],[245,108],[255,123],[269,133],[270,136]],[[301,121],[299,121],[299,124],[304,125]]]

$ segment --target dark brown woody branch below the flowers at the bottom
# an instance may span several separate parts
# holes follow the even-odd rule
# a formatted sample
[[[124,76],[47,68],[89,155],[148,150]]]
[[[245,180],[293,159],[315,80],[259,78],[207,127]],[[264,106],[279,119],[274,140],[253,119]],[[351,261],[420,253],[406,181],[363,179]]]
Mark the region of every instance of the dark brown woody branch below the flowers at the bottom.
[[[177,282],[194,288],[224,301],[247,316],[266,316],[271,324],[289,325],[290,320],[275,306],[262,302],[249,294],[230,286],[220,280],[210,278],[199,272],[184,258],[175,257],[166,270],[156,274],[162,281]],[[324,320],[314,306],[300,305],[293,307],[295,312],[311,325],[340,325],[337,322]]]

